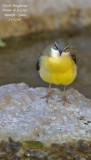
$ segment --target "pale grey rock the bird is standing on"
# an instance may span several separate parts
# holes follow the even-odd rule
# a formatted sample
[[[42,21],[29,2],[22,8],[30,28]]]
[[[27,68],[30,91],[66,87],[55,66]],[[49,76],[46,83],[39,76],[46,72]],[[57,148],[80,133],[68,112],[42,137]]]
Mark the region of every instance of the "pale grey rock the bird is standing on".
[[[44,144],[91,140],[91,100],[75,89],[66,91],[70,101],[59,101],[63,91],[53,88],[53,98],[42,98],[47,88],[27,84],[0,87],[0,140],[36,140]]]

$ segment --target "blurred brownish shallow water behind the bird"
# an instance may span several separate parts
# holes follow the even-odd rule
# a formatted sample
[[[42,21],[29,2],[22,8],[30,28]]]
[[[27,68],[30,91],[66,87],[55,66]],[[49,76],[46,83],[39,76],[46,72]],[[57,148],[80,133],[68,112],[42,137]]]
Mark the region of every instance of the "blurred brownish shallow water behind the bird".
[[[40,79],[35,66],[41,51],[60,37],[60,33],[50,36],[41,33],[5,40],[7,46],[0,48],[0,85],[25,82],[30,87],[48,87]],[[68,39],[79,51],[78,76],[70,87],[91,98],[91,37],[80,35]]]

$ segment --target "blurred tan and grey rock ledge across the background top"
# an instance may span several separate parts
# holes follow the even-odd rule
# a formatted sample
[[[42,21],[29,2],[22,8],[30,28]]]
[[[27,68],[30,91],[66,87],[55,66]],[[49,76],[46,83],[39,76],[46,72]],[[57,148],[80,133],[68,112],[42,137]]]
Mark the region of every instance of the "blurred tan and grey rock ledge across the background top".
[[[64,33],[78,33],[91,26],[91,1],[87,0],[13,0],[16,5],[28,5],[25,17],[18,21],[16,17],[4,16],[3,4],[11,4],[8,0],[0,2],[0,38],[25,35],[56,29]],[[44,5],[45,4],[45,5]],[[9,9],[9,8],[8,8]],[[12,9],[12,7],[11,7]],[[10,12],[13,14],[12,12]],[[17,14],[17,13],[16,13]]]

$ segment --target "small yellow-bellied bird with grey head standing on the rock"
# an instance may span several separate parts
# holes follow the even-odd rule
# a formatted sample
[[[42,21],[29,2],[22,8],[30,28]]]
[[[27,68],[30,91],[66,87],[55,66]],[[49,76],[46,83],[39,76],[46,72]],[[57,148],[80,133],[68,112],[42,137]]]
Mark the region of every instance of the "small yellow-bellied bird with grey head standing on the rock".
[[[43,98],[46,97],[48,102],[49,97],[52,97],[51,84],[63,85],[64,96],[62,100],[65,105],[67,101],[65,87],[71,84],[77,76],[76,50],[69,47],[68,43],[56,41],[40,54],[36,69],[41,79],[49,83],[48,94]]]

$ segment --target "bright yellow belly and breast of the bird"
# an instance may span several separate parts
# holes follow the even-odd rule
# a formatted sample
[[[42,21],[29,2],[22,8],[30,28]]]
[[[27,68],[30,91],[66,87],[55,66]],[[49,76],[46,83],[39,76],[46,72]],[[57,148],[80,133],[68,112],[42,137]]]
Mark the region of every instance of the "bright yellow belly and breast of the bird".
[[[77,68],[70,56],[60,58],[41,56],[40,77],[48,83],[68,85],[77,75]]]

